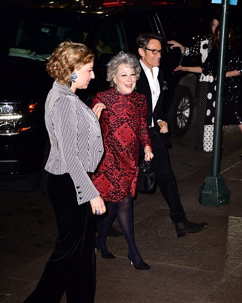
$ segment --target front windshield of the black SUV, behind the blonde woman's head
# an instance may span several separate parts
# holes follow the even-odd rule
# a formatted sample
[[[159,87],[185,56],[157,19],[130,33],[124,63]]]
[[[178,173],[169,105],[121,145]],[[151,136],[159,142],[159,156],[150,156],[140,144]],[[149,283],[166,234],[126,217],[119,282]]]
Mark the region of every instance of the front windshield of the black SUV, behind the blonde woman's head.
[[[85,42],[90,28],[89,24],[77,25],[38,18],[15,19],[4,32],[6,37],[1,50],[4,53],[8,52],[9,56],[46,60],[55,47],[66,39],[72,42]]]

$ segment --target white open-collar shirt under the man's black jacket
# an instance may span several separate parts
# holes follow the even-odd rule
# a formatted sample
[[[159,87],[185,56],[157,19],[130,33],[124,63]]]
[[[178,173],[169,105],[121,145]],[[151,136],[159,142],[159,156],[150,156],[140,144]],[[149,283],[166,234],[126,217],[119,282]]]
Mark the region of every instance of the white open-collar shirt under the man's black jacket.
[[[150,89],[151,89],[151,95],[152,95],[152,111],[154,111],[154,108],[157,104],[157,100],[159,98],[160,95],[160,84],[159,81],[157,79],[158,77],[158,73],[159,73],[159,67],[154,66],[152,68],[153,71],[153,75],[152,72],[150,70],[149,67],[147,67],[146,65],[143,64],[142,60],[139,59],[140,65],[142,66],[144,73],[146,73],[146,77],[148,79],[148,82],[150,84]],[[154,120],[152,118],[152,127],[154,127]]]

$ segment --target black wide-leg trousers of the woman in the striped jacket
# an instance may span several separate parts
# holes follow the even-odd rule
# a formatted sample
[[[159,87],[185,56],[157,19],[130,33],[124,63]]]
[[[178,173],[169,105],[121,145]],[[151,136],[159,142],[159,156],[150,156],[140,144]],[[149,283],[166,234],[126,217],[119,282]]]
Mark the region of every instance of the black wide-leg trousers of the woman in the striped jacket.
[[[34,292],[24,303],[91,303],[95,292],[93,216],[90,203],[78,205],[68,173],[46,175],[46,193],[59,231],[55,249]]]

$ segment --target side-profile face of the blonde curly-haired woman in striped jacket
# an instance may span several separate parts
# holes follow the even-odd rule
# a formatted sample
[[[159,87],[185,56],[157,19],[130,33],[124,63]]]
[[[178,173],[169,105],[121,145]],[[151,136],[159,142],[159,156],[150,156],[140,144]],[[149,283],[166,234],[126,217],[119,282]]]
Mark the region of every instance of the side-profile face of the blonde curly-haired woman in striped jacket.
[[[82,65],[79,69],[74,70],[74,72],[77,75],[77,79],[75,79],[75,82],[71,83],[70,89],[72,90],[72,92],[75,93],[77,88],[79,89],[87,88],[90,80],[95,78],[92,68],[93,68],[93,61],[85,65]]]

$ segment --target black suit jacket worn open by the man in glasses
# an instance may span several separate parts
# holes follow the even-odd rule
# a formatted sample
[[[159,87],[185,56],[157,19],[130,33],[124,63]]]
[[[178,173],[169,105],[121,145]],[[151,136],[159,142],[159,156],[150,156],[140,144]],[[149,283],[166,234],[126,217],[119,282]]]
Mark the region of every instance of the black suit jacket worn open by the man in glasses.
[[[157,100],[157,104],[154,108],[154,112],[152,109],[152,93],[151,93],[150,84],[149,84],[149,81],[146,77],[146,73],[144,72],[142,66],[141,66],[141,72],[140,72],[140,79],[137,81],[136,87],[137,87],[137,92],[145,95],[147,98],[147,103],[148,103],[147,122],[148,122],[149,129],[151,128],[152,117],[153,117],[155,129],[156,129],[157,133],[159,134],[159,136],[160,136],[161,140],[164,142],[164,144],[168,145],[168,144],[170,144],[170,142],[169,142],[167,136],[165,134],[160,133],[160,127],[156,122],[159,119],[166,120],[164,112],[163,112],[163,108],[162,108],[162,99],[163,99],[163,94],[164,94],[164,90],[163,90],[164,79],[163,79],[163,71],[160,68],[159,68],[157,79],[160,84],[160,95]]]

